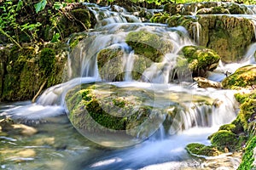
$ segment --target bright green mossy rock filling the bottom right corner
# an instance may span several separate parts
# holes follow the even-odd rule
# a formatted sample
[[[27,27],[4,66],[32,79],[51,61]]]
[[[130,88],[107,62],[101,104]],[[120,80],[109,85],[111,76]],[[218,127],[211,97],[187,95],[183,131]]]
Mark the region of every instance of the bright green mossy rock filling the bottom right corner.
[[[248,140],[245,153],[242,156],[241,164],[237,170],[256,169],[256,136]],[[254,163],[253,163],[254,162]]]

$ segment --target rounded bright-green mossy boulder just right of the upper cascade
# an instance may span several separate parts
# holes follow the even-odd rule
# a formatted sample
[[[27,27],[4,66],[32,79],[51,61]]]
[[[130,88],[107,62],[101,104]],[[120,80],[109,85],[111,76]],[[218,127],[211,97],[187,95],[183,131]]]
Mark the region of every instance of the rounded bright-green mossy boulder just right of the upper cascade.
[[[205,77],[207,71],[213,71],[218,66],[220,59],[212,49],[198,46],[185,46],[179,54],[183,55],[187,62],[178,63],[188,63],[194,77]]]

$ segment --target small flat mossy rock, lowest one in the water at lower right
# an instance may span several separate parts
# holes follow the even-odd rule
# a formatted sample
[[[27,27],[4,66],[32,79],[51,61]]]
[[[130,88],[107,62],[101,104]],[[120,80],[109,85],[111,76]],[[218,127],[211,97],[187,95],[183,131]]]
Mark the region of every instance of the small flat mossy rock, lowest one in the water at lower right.
[[[207,146],[205,144],[192,143],[188,144],[185,148],[192,156],[205,157],[205,156],[219,156],[223,152],[219,151],[216,146]]]

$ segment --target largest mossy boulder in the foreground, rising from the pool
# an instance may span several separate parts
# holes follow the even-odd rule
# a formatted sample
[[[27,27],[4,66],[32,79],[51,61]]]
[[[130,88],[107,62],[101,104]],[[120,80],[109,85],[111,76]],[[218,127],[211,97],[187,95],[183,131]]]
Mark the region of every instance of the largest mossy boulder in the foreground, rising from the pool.
[[[123,131],[136,137],[152,133],[149,127],[155,124],[155,119],[148,122],[148,116],[153,108],[142,105],[143,100],[151,98],[140,89],[96,83],[73,88],[67,93],[66,103],[70,121],[79,131]]]

